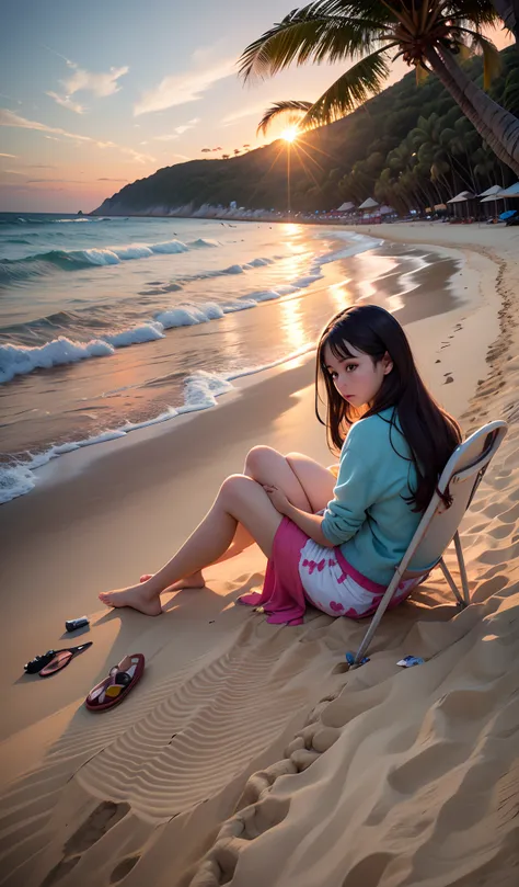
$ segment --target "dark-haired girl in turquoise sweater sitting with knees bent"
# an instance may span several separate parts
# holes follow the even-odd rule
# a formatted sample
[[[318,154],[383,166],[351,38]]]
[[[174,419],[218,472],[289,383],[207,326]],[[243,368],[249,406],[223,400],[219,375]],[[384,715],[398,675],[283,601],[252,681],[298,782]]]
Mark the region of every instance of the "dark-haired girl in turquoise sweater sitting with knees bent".
[[[341,450],[338,473],[299,453],[255,446],[244,473],[223,481],[206,518],[159,572],[100,600],[157,616],[162,592],[203,587],[205,567],[256,542],[268,558],[263,592],[240,601],[262,605],[268,622],[300,624],[307,601],[331,616],[371,614],[461,431],[424,385],[397,320],[376,305],[346,308],[326,325],[315,411],[328,445]],[[393,605],[413,582],[401,584]]]

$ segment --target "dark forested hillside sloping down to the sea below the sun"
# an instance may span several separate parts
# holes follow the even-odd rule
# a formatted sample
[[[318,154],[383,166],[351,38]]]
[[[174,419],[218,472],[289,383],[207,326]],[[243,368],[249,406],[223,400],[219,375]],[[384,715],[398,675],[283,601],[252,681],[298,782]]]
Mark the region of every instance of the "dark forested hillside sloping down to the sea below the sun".
[[[519,53],[501,53],[492,98],[519,116]],[[482,86],[481,58],[464,62]],[[299,143],[299,145],[298,145]],[[204,204],[287,208],[287,145],[226,160],[191,160],[158,170],[104,201],[95,214],[196,211]],[[482,143],[439,80],[414,72],[344,120],[301,135],[290,148],[292,212],[332,209],[368,196],[401,213],[442,203],[459,191],[508,185],[514,173]]]

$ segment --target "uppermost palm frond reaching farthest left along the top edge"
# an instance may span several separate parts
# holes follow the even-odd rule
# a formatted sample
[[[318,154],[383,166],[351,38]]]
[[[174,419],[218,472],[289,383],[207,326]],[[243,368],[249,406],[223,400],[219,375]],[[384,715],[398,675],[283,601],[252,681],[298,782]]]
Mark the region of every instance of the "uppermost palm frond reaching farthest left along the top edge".
[[[388,35],[384,21],[372,21],[366,15],[346,18],[320,11],[322,2],[292,10],[285,19],[251,43],[239,59],[240,75],[269,77],[293,61],[318,65],[326,60],[344,60],[359,52],[380,46]]]

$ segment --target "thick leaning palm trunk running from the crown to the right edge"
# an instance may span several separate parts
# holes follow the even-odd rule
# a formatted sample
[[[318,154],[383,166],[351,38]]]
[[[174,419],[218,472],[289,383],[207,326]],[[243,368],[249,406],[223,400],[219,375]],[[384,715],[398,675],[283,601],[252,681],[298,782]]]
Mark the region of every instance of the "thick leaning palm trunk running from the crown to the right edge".
[[[428,52],[427,61],[488,147],[519,178],[519,120],[476,87],[447,49]]]

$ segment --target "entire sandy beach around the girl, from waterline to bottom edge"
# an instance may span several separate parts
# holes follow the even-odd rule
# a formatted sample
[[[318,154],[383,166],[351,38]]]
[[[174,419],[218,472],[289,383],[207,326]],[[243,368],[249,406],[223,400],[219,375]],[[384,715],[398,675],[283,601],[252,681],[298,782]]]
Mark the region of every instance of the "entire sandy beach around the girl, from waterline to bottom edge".
[[[465,431],[510,423],[462,525],[473,604],[459,612],[434,571],[384,616],[356,671],[344,652],[365,624],[310,610],[304,625],[276,627],[234,606],[262,584],[255,547],[210,568],[205,590],[172,595],[157,619],[97,607],[97,591],[171,555],[252,445],[330,464],[311,421],[309,361],[250,377],[174,433],[139,432],[101,457],[95,447],[49,465],[0,511],[10,553],[0,884],[517,884],[519,232],[374,231],[452,258],[462,250],[463,304],[406,330]],[[452,551],[446,560],[455,575]],[[26,658],[62,644],[64,618],[83,612],[92,625],[81,637],[94,646],[56,679],[21,678]],[[140,685],[120,708],[89,714],[89,689],[136,651],[147,657]],[[406,653],[425,664],[400,669]]]

